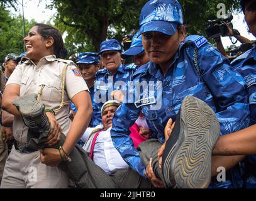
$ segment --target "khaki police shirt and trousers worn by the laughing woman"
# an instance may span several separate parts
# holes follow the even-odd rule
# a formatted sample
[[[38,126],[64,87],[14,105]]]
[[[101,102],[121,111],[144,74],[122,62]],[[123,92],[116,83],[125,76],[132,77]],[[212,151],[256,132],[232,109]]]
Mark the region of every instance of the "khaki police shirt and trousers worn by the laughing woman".
[[[56,58],[55,55],[42,58],[38,65],[31,60],[22,61],[11,74],[6,85],[20,85],[20,96],[38,94],[44,85],[40,98],[45,104],[45,109],[57,109],[62,97],[62,70],[67,63],[70,65],[65,73],[64,101],[68,102],[75,94],[88,90],[88,87],[74,63]],[[69,111],[70,106],[66,105],[55,114],[65,135],[69,132],[72,123],[69,119]],[[13,136],[19,146],[22,144],[25,146],[27,133],[28,127],[21,117],[14,117]],[[64,171],[40,162],[39,151],[21,153],[13,148],[6,160],[1,187],[66,188],[68,185],[69,180]]]

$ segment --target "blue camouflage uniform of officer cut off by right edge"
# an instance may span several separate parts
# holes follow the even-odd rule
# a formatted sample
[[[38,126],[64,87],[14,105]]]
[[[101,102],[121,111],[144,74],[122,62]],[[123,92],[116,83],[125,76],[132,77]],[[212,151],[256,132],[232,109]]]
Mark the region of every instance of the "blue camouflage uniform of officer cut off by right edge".
[[[237,70],[247,83],[250,104],[250,125],[256,122],[256,46],[233,60],[232,68]],[[246,188],[256,188],[256,156],[250,155],[241,163]]]

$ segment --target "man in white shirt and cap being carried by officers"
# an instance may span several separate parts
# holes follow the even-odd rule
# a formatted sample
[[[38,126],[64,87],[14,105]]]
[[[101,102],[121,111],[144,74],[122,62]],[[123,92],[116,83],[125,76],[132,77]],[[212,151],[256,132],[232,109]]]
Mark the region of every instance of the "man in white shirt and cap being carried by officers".
[[[151,188],[148,180],[129,168],[120,153],[114,148],[110,136],[114,112],[120,103],[109,100],[101,108],[102,123],[95,128],[87,128],[81,140],[85,142],[83,149],[94,163],[111,177],[117,188]]]

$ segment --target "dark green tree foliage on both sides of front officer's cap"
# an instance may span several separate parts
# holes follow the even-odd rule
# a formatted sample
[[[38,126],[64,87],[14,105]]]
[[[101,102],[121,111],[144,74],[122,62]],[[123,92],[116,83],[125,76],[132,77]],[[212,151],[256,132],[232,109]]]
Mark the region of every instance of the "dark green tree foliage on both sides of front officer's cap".
[[[227,13],[239,8],[240,0],[180,0],[188,34],[205,35],[206,21],[216,19],[217,4],[223,3]],[[140,10],[147,0],[52,0],[58,14],[55,25],[65,31],[69,54],[99,51],[101,41],[121,38],[138,29]]]

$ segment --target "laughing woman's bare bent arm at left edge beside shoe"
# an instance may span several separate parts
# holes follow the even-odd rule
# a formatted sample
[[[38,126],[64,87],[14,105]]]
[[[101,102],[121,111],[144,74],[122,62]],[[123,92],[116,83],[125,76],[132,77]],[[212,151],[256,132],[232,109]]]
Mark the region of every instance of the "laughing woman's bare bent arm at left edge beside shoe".
[[[20,85],[9,84],[4,89],[3,94],[2,109],[10,114],[13,114],[14,116],[20,116],[16,106],[13,105],[13,100],[19,97],[19,89]]]

